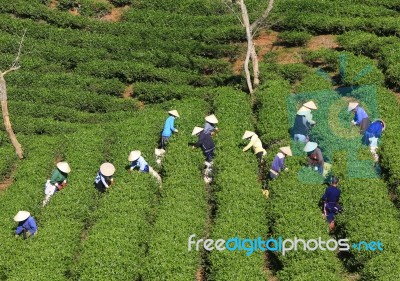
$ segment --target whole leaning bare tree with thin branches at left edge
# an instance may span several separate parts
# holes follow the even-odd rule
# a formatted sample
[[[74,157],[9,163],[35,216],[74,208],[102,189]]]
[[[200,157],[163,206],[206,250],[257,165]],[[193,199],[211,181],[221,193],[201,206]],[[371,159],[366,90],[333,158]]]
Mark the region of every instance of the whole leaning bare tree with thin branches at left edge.
[[[21,56],[22,43],[24,42],[25,33],[26,33],[26,30],[24,31],[24,34],[22,35],[21,41],[19,43],[17,57],[15,58],[11,67],[5,71],[0,71],[0,101],[1,101],[1,112],[3,115],[4,127],[6,128],[6,131],[8,133],[8,136],[10,137],[11,143],[15,148],[15,153],[18,155],[19,159],[24,158],[24,152],[22,151],[22,146],[18,142],[17,137],[15,136],[14,131],[11,126],[10,116],[8,114],[8,105],[7,105],[7,87],[6,87],[6,80],[4,79],[4,76],[7,73],[20,68],[19,59]]]

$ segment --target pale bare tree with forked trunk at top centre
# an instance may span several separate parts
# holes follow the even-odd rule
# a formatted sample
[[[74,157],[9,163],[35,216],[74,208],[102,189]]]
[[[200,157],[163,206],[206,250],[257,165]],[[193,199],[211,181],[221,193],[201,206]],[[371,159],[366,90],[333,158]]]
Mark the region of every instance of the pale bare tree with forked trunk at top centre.
[[[226,3],[227,2],[228,1],[226,1]],[[246,52],[246,59],[244,61],[244,71],[246,74],[246,82],[247,82],[247,87],[249,89],[249,93],[253,94],[254,88],[256,88],[260,84],[260,79],[259,79],[260,71],[258,68],[258,57],[257,57],[257,53],[256,53],[256,48],[254,46],[253,37],[254,37],[254,33],[255,33],[256,29],[265,22],[269,13],[272,11],[272,8],[274,6],[274,0],[269,0],[268,6],[265,9],[262,16],[260,18],[258,18],[256,21],[254,21],[252,24],[250,24],[247,7],[246,7],[244,0],[232,0],[231,3],[239,4],[240,10],[241,10],[241,15],[242,15],[240,21],[246,29],[247,52]],[[230,7],[229,4],[228,4],[228,7]],[[251,81],[251,74],[250,74],[250,70],[249,70],[250,59],[251,59],[252,65],[253,65],[253,81]]]

